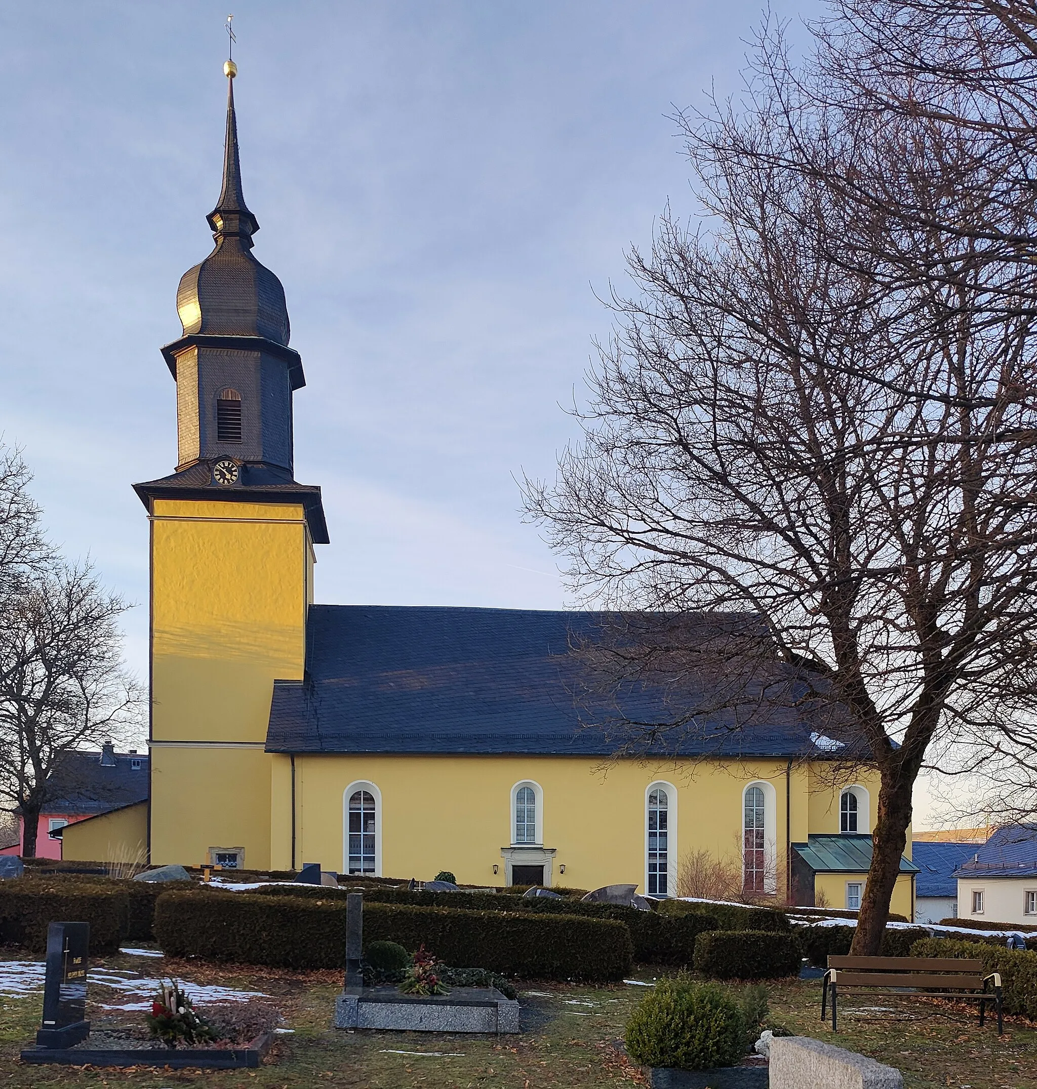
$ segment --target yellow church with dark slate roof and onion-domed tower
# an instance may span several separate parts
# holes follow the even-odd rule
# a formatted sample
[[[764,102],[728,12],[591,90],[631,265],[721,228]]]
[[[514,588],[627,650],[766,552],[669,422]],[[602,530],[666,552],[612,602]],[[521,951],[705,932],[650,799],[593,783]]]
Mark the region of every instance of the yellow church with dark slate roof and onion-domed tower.
[[[162,348],[176,468],[134,486],[150,524],[148,798],[70,824],[64,857],[667,896],[707,853],[756,897],[857,907],[878,778],[834,783],[834,743],[806,715],[708,752],[615,758],[567,682],[593,613],[314,603],[329,535],[293,465],[306,378],[284,289],[252,254],[224,72],[214,248],[181,279],[182,335]],[[902,859],[892,904],[909,918],[915,869]]]

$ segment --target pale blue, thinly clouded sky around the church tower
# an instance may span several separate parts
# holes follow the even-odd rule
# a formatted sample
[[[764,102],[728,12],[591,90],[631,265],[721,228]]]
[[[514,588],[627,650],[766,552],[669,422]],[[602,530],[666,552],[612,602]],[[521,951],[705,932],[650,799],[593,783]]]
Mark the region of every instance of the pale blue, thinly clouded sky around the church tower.
[[[816,0],[776,0],[795,22]],[[243,0],[255,254],[307,387],[296,478],[323,488],[323,602],[571,604],[516,478],[576,435],[601,299],[669,204],[672,120],[741,87],[760,0]],[[49,533],[136,603],[131,485],[176,460],[182,273],[211,249],[225,4],[0,0],[0,435]],[[800,32],[794,32],[800,37]]]

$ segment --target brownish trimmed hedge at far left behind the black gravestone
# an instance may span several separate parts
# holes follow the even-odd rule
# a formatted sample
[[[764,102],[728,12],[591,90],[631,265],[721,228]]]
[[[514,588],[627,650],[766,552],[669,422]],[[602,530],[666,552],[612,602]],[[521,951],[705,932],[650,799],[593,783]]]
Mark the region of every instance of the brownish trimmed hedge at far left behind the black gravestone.
[[[51,922],[88,922],[90,953],[115,953],[126,937],[129,900],[120,883],[23,877],[0,882],[0,942],[47,952]]]

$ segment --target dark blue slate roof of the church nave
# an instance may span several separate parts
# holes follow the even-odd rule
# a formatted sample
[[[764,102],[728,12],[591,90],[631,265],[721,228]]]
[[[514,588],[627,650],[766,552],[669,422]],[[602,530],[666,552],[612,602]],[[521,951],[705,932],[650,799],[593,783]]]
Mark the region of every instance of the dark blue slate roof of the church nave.
[[[590,612],[312,605],[306,681],[275,683],[267,750],[612,755],[606,731],[581,729],[569,652],[600,624]],[[664,705],[657,689],[622,700],[644,721],[671,714]],[[744,731],[718,715],[697,724],[695,739],[649,752],[831,756],[800,711]]]

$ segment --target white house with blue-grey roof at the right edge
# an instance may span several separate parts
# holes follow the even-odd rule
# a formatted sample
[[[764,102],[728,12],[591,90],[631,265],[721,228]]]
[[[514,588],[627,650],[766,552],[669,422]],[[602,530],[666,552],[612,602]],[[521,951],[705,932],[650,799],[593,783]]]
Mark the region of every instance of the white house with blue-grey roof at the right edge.
[[[1037,824],[1005,824],[954,870],[958,915],[1037,925]]]

